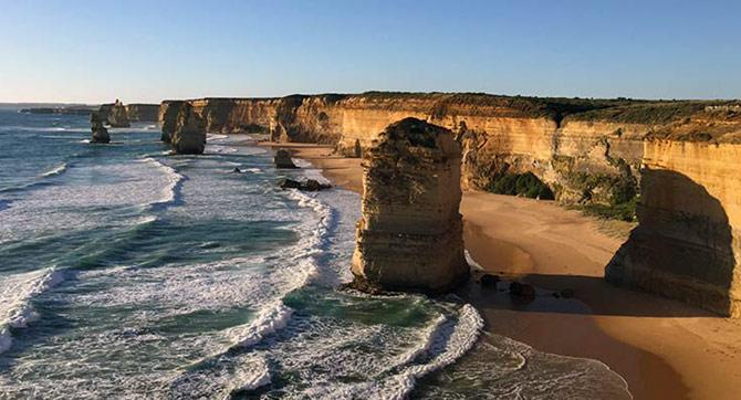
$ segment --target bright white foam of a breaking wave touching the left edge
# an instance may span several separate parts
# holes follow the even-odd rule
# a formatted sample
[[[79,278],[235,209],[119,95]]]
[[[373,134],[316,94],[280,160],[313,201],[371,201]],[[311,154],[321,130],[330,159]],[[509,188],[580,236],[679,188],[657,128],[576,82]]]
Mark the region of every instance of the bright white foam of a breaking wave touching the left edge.
[[[0,352],[12,345],[10,328],[25,328],[39,318],[31,299],[64,281],[62,271],[44,269],[3,276],[0,281]]]

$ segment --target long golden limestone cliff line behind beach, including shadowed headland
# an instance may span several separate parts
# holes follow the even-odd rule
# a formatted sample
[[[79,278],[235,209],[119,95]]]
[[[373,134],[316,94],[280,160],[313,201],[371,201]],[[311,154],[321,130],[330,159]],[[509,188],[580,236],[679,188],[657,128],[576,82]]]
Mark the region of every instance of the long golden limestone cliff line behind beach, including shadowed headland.
[[[507,189],[530,173],[549,187],[533,193],[561,202],[625,209],[627,218],[638,204],[639,228],[607,270],[610,281],[739,314],[738,102],[365,93],[189,103],[210,131],[328,143],[357,157],[406,117],[448,128],[462,148],[465,188]],[[679,217],[686,225],[671,222]]]

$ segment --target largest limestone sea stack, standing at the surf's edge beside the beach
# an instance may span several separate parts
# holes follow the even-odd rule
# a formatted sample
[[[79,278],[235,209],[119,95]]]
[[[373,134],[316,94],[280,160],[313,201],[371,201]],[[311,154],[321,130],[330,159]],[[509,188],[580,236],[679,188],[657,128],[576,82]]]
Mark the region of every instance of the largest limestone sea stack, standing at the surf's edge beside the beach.
[[[441,293],[466,281],[460,159],[450,130],[416,118],[364,151],[353,287]]]

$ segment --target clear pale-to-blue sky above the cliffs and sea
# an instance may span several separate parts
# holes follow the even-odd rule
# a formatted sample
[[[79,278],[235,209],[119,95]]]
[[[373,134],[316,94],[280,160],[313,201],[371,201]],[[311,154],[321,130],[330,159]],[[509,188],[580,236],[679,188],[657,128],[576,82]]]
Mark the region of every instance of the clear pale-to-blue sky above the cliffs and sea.
[[[0,102],[741,97],[741,1],[0,0]]]

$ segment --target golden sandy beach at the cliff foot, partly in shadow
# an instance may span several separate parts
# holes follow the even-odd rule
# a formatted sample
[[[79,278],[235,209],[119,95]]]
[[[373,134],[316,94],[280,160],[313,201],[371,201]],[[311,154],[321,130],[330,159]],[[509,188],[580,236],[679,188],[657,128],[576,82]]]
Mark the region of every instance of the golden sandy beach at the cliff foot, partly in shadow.
[[[359,159],[335,156],[331,146],[276,146],[362,192]],[[487,272],[538,287],[533,301],[473,282],[461,288],[489,331],[601,360],[636,399],[741,398],[741,322],[604,282],[604,265],[630,227],[553,202],[478,191],[463,193],[461,213],[466,246]],[[555,298],[562,290],[574,297]]]

